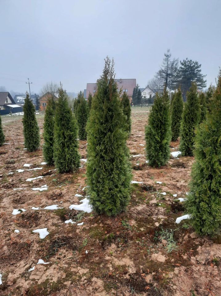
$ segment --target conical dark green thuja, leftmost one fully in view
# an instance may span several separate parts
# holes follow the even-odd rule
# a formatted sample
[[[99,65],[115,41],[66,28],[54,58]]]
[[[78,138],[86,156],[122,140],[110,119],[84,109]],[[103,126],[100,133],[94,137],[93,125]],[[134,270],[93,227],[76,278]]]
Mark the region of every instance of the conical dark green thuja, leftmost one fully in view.
[[[35,108],[30,100],[28,92],[26,92],[24,104],[24,117],[23,117],[23,134],[25,138],[25,147],[27,151],[32,152],[38,149],[40,145],[40,134],[38,122],[35,116]]]

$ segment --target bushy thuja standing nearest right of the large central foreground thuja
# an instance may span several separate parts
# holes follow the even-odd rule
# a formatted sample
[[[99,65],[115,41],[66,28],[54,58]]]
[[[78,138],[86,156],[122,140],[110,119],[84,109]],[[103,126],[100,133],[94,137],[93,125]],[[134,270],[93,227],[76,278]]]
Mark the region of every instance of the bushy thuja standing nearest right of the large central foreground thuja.
[[[165,165],[170,158],[171,118],[170,103],[166,89],[156,94],[154,105],[145,128],[146,152],[152,167]]]

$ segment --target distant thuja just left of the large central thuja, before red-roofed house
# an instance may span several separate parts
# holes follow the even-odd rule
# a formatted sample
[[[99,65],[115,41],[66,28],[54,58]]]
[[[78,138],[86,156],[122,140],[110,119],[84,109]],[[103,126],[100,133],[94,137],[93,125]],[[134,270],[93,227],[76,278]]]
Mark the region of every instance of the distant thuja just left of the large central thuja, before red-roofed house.
[[[80,140],[86,140],[86,123],[89,115],[89,108],[84,97],[80,98],[80,103],[78,104],[76,119],[78,124],[78,137]]]

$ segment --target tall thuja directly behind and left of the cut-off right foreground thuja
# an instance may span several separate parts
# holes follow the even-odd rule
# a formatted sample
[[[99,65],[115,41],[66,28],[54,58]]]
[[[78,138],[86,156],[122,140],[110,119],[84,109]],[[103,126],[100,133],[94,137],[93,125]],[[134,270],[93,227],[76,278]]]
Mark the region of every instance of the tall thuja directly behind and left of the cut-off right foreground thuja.
[[[187,92],[187,102],[184,105],[180,128],[180,151],[185,156],[193,156],[195,129],[199,123],[200,108],[197,86],[191,85]]]

